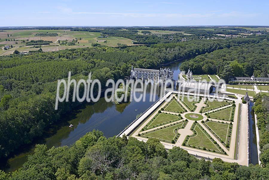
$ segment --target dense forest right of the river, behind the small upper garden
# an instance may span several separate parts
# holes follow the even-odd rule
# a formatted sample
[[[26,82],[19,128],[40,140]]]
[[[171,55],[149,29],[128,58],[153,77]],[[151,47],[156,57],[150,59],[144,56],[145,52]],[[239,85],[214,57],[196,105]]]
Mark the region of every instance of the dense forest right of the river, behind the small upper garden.
[[[245,44],[250,40],[250,44]],[[251,38],[238,38],[234,43],[241,46],[225,48],[197,56],[182,63],[181,70],[192,69],[194,74],[218,74],[228,82],[230,76],[267,77],[269,73],[269,43]],[[243,43],[244,42],[244,43]]]

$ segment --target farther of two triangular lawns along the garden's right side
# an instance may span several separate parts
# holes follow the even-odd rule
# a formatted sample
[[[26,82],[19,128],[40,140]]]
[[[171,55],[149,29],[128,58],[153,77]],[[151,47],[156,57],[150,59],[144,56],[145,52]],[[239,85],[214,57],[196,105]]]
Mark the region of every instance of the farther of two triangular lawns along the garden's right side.
[[[221,110],[217,110],[215,112],[211,112],[209,113],[209,115],[210,118],[213,119],[231,121],[233,120],[234,109],[234,107],[228,107]]]

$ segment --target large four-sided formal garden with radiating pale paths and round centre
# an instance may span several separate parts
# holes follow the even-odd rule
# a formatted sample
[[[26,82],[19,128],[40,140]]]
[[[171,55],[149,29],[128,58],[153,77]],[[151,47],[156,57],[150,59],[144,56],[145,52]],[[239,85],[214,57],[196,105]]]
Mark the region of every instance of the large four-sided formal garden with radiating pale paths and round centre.
[[[235,101],[209,101],[201,97],[192,101],[193,97],[188,100],[185,96],[171,96],[169,102],[163,102],[146,118],[135,136],[157,138],[177,146],[227,155],[230,151]],[[199,113],[194,112],[197,108],[195,104],[201,101],[204,106],[199,105]],[[181,141],[178,141],[179,138]]]

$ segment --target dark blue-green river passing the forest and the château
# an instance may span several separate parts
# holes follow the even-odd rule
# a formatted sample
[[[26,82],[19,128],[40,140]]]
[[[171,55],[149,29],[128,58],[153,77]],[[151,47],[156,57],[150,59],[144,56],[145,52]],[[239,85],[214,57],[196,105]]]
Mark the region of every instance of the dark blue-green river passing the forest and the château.
[[[181,62],[175,62],[164,67],[169,67],[173,70],[173,79],[178,80],[180,65]],[[159,99],[159,95],[156,95],[155,99]],[[112,102],[106,102],[105,98],[100,98],[96,103],[82,104],[70,113],[65,114],[59,121],[59,124],[50,128],[44,137],[34,142],[34,144],[43,143],[48,148],[52,146],[68,146],[93,129],[103,131],[106,137],[113,137],[135,120],[137,114],[146,111],[153,103],[149,101],[148,90],[146,102],[132,101],[115,105]],[[74,126],[69,128],[69,124]],[[12,172],[22,167],[27,161],[27,155],[31,154],[33,149],[34,145],[22,149],[23,152],[9,158],[4,168],[5,172]]]

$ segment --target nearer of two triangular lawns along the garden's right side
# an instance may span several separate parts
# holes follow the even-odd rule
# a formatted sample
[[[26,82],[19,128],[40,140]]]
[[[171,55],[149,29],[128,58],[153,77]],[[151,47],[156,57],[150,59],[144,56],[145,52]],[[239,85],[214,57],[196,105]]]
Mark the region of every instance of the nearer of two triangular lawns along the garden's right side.
[[[220,123],[220,122],[213,122],[209,121],[205,123],[208,128],[210,128],[216,137],[219,137],[220,140],[223,140],[226,144],[228,142],[228,135],[229,135],[229,124],[226,123]]]

